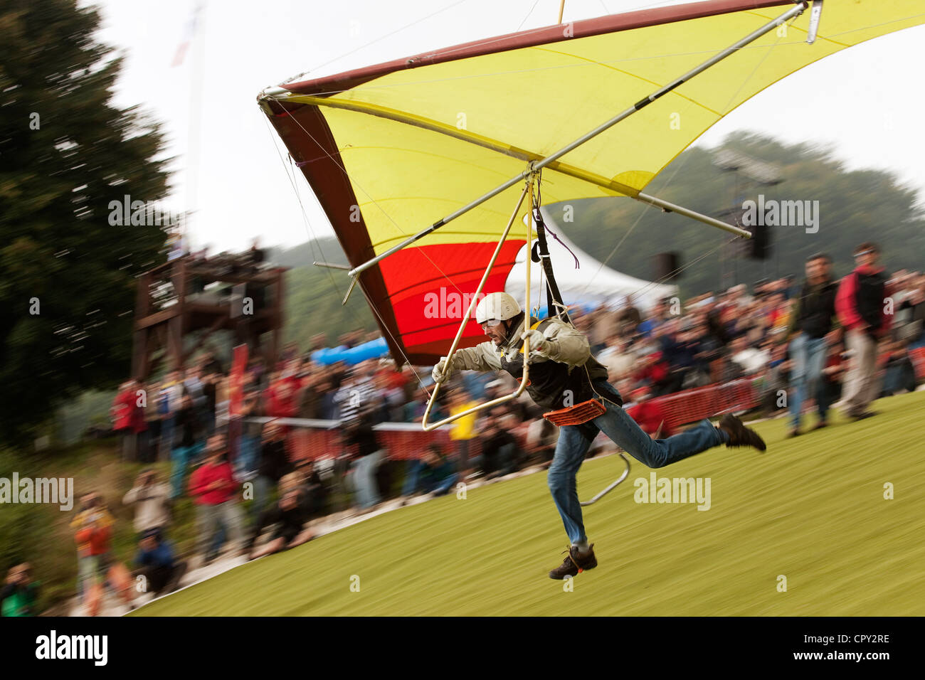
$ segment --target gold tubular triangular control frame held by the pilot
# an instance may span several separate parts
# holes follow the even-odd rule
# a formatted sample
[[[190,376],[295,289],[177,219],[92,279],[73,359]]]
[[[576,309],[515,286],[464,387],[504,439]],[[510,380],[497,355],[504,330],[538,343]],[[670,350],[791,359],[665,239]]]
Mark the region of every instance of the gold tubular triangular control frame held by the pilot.
[[[452,371],[451,365],[453,361],[453,354],[456,353],[456,349],[459,346],[460,340],[462,340],[462,331],[465,328],[465,325],[469,322],[469,318],[475,312],[475,307],[479,303],[479,295],[482,293],[482,289],[485,287],[485,283],[488,280],[488,274],[491,272],[491,268],[495,266],[495,260],[498,259],[498,255],[501,252],[501,246],[504,244],[504,241],[508,238],[508,234],[511,232],[514,220],[517,219],[517,214],[520,212],[521,205],[524,204],[524,196],[528,196],[527,202],[527,221],[526,221],[526,300],[524,302],[524,333],[530,329],[530,248],[531,242],[533,239],[533,182],[536,176],[533,173],[530,173],[529,180],[524,187],[524,191],[521,192],[520,199],[518,199],[517,204],[514,206],[514,210],[511,214],[511,219],[508,220],[507,227],[504,228],[504,231],[501,233],[501,238],[498,241],[498,247],[495,248],[495,252],[492,253],[491,259],[488,261],[488,266],[485,269],[485,273],[482,275],[482,280],[478,282],[478,288],[475,289],[475,295],[472,297],[472,302],[469,303],[469,309],[466,311],[465,315],[462,316],[462,323],[460,323],[460,328],[456,331],[456,337],[453,339],[452,344],[450,345],[450,352],[447,354],[446,363],[443,365],[443,373],[441,377],[445,380],[450,376]],[[434,391],[430,393],[430,399],[427,401],[427,408],[424,412],[424,418],[421,420],[421,427],[424,427],[425,432],[430,432],[438,427],[452,423],[454,420],[462,418],[464,415],[474,414],[477,411],[484,411],[487,408],[496,406],[499,403],[510,402],[512,399],[516,399],[521,394],[524,393],[526,389],[526,384],[529,380],[529,361],[527,358],[530,356],[530,339],[529,336],[524,337],[524,373],[521,377],[521,383],[517,389],[512,394],[507,394],[503,397],[493,399],[489,402],[477,404],[470,409],[466,409],[458,414],[451,414],[443,420],[438,421],[437,423],[428,423],[427,418],[430,416],[430,411],[434,407],[434,402],[437,401],[437,394],[440,389],[440,384],[443,380],[439,380],[434,383]]]

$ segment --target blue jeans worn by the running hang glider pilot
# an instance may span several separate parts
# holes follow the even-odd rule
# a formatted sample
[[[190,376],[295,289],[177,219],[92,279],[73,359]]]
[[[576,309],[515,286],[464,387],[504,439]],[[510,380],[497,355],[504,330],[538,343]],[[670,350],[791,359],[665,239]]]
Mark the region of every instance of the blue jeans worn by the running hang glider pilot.
[[[607,413],[584,425],[559,428],[556,454],[549,465],[548,483],[552,500],[573,544],[587,540],[575,476],[598,431],[648,467],[664,467],[729,441],[729,435],[713,427],[709,420],[702,420],[697,426],[668,439],[652,439],[623,408],[611,402],[605,403]]]

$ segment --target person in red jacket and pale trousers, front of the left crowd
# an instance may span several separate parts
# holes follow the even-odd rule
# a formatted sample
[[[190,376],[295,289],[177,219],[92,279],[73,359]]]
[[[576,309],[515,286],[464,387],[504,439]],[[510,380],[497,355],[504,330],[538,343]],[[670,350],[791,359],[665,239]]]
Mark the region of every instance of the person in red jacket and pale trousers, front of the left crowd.
[[[228,463],[225,435],[216,432],[205,445],[206,461],[190,477],[190,495],[196,504],[196,552],[209,563],[209,543],[221,521],[228,530],[231,545],[240,547],[243,521],[238,505],[239,484]]]

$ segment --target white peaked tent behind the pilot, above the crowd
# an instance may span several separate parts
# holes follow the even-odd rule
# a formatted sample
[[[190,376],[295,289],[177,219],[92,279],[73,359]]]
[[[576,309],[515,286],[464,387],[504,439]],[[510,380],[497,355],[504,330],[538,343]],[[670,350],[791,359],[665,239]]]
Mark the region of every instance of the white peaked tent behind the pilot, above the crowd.
[[[643,310],[651,309],[661,298],[673,297],[677,294],[677,286],[653,283],[642,278],[630,277],[604,266],[585,251],[578,248],[564,234],[561,225],[557,224],[545,207],[540,207],[543,222],[555,232],[560,241],[568,246],[569,253],[559,241],[556,241],[547,232],[547,247],[552,260],[552,270],[562,293],[562,302],[566,305],[576,303],[600,303],[611,307],[623,306],[624,298],[632,296],[636,307]],[[517,253],[516,264],[504,285],[504,290],[511,293],[521,304],[524,303],[524,261],[528,257],[526,246]],[[578,268],[575,268],[575,257],[578,258]],[[539,304],[546,307],[545,278],[544,289],[540,289],[540,274],[543,267],[540,263],[530,263],[530,306]]]

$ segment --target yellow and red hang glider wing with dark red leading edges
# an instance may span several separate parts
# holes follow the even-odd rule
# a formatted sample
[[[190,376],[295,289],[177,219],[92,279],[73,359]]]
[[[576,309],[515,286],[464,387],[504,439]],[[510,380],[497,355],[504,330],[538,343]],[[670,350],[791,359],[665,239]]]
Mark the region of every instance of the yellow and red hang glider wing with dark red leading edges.
[[[524,183],[536,181],[545,204],[623,196],[747,236],[645,189],[772,83],[923,22],[921,0],[709,0],[288,82],[258,101],[396,362],[434,364],[457,327],[459,346],[484,340],[475,321],[461,325],[467,303],[476,291],[503,291],[535,238],[520,227]],[[454,295],[456,315],[433,314],[428,302]]]

